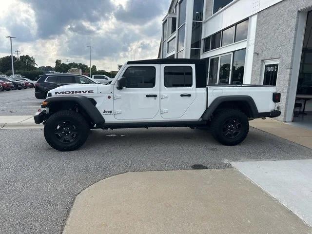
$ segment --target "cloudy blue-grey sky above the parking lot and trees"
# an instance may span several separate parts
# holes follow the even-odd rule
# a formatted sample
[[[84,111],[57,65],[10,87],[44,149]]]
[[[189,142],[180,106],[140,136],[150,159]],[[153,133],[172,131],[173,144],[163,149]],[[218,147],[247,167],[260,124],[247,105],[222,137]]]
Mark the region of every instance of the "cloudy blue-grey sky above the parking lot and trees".
[[[171,0],[0,0],[0,57],[20,50],[38,66],[56,59],[117,70],[131,59],[157,57],[161,20]]]

